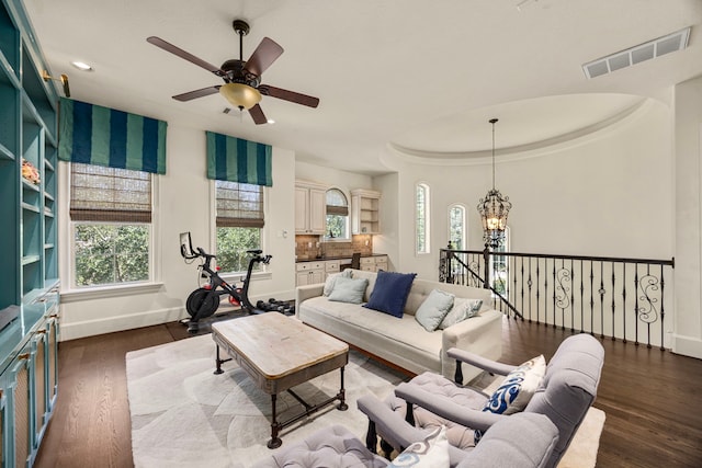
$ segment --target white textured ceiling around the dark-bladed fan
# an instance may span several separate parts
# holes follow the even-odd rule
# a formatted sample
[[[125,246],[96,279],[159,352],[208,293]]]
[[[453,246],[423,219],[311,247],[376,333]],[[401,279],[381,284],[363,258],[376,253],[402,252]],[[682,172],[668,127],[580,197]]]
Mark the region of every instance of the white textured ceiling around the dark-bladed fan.
[[[699,0],[25,0],[54,75],[72,98],[295,150],[299,160],[367,174],[388,146],[471,158],[496,144],[537,147],[596,130],[645,99],[702,75]],[[520,8],[518,8],[520,7]],[[234,19],[285,49],[262,82],[318,96],[309,109],[264,96],[253,125],[222,83],[146,42],[159,36],[215,65],[238,58]],[[581,65],[693,26],[689,47],[588,80]],[[94,71],[80,72],[72,60]]]

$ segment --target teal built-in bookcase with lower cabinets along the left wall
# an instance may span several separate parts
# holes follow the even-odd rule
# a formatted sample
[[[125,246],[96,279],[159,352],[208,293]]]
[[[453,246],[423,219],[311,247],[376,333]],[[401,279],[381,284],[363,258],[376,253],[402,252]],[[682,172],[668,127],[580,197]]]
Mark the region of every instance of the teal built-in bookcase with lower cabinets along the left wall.
[[[21,0],[0,1],[0,331],[2,467],[31,467],[57,392],[58,95]],[[24,167],[24,170],[23,170]]]

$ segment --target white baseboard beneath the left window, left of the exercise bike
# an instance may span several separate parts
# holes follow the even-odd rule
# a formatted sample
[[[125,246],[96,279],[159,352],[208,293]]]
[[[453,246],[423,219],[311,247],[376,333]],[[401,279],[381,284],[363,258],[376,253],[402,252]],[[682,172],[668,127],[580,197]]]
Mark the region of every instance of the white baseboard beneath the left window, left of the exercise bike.
[[[188,317],[182,307],[149,310],[141,313],[113,316],[103,319],[83,320],[72,323],[60,322],[60,341],[76,340],[115,331],[132,330],[160,323],[172,322]]]

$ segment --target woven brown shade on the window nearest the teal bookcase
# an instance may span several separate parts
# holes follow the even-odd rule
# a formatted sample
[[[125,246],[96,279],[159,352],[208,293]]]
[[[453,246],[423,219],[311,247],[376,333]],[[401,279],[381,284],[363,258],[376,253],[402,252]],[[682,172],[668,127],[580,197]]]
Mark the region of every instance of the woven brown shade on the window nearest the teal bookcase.
[[[151,222],[151,174],[71,163],[70,218]]]

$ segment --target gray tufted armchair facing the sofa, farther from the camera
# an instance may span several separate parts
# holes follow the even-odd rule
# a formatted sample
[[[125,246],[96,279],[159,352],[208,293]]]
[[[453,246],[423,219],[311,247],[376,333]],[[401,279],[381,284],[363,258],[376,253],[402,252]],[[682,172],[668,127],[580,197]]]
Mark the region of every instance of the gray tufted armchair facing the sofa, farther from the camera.
[[[494,374],[507,375],[516,368],[456,349],[448,353],[458,363]],[[545,467],[558,464],[595,401],[603,359],[604,350],[599,341],[589,334],[578,334],[564,340],[548,363],[541,386],[524,409],[525,413],[546,415],[558,429],[558,443]],[[395,396],[385,401],[373,397],[359,399],[359,409],[369,416],[366,446],[374,450],[380,435],[386,454],[390,448],[401,450],[410,429],[430,430],[443,424],[448,426],[451,444],[451,466],[456,466],[463,452],[476,447],[474,430],[487,431],[497,422],[516,415],[482,411],[488,399],[488,395],[461,387],[441,375],[421,374],[400,384]]]

